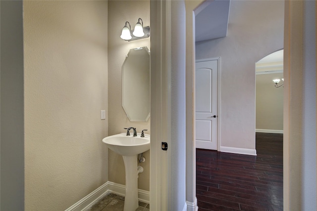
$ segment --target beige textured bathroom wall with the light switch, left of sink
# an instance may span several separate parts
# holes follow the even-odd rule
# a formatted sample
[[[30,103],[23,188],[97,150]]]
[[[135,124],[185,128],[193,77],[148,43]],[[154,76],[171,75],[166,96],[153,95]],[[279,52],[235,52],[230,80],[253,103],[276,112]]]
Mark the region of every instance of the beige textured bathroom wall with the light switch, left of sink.
[[[24,1],[25,210],[107,181],[107,1]]]

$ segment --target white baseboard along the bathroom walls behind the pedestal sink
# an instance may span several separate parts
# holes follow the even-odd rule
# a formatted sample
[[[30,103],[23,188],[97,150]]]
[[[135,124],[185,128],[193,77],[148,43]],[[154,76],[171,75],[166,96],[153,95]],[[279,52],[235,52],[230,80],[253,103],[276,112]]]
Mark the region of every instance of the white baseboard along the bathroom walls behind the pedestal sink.
[[[105,184],[85,196],[83,199],[76,202],[65,211],[83,211],[98,202],[107,193],[114,193],[119,196],[125,196],[125,185],[107,181]],[[144,202],[147,204],[150,203],[150,191],[138,189],[138,196],[140,202]]]

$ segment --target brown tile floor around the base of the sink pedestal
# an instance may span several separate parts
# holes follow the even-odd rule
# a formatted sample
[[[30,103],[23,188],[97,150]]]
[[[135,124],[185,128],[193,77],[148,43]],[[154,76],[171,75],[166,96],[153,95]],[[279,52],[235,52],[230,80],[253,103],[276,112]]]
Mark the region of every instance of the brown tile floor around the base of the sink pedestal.
[[[107,193],[99,202],[86,209],[86,211],[123,211],[124,197]],[[136,211],[150,211],[150,204],[139,202]]]

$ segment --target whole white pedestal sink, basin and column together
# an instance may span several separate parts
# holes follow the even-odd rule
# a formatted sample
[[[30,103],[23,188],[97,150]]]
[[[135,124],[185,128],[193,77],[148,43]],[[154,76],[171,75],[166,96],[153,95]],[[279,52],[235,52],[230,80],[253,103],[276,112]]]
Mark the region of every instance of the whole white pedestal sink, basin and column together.
[[[139,207],[138,200],[138,154],[150,149],[150,135],[141,133],[127,136],[126,133],[111,135],[103,142],[112,151],[122,155],[125,169],[124,211],[135,211]]]

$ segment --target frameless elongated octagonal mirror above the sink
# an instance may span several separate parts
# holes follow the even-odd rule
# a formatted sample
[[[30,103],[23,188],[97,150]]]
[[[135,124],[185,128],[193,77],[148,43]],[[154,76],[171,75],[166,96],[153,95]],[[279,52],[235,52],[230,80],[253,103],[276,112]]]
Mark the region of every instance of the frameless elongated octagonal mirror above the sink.
[[[132,122],[150,118],[150,51],[147,47],[129,50],[122,65],[122,107]]]

